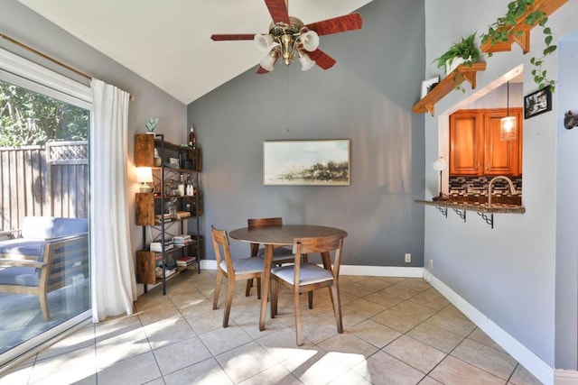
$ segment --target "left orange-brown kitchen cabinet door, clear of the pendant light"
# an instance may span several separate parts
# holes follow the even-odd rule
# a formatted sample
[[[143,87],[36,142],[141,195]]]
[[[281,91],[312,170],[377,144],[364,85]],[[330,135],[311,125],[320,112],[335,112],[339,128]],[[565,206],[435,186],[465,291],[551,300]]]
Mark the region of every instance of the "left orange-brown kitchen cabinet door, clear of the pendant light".
[[[483,163],[483,119],[475,112],[450,116],[450,174],[478,175]]]

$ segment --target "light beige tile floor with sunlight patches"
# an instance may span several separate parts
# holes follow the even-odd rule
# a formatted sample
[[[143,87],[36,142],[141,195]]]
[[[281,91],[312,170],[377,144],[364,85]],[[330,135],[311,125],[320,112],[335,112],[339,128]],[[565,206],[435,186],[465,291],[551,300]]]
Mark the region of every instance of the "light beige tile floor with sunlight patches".
[[[295,345],[292,297],[258,331],[259,302],[237,285],[228,328],[212,310],[214,271],[187,272],[135,302],[135,315],[87,325],[0,384],[539,384],[421,279],[341,276],[344,333],[328,290],[303,301]]]

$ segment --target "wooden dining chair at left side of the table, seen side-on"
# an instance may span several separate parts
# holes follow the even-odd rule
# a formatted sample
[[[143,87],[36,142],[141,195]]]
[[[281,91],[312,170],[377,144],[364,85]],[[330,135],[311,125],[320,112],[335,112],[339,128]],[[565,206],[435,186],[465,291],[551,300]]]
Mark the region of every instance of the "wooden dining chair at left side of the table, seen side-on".
[[[257,298],[261,298],[261,277],[265,261],[258,257],[233,258],[231,256],[228,234],[225,230],[219,230],[211,225],[215,257],[217,258],[217,279],[215,280],[215,293],[213,297],[213,310],[219,307],[219,294],[223,277],[227,279],[227,299],[225,301],[225,313],[223,315],[223,327],[228,326],[228,316],[231,312],[233,294],[236,280],[253,280],[256,278]]]

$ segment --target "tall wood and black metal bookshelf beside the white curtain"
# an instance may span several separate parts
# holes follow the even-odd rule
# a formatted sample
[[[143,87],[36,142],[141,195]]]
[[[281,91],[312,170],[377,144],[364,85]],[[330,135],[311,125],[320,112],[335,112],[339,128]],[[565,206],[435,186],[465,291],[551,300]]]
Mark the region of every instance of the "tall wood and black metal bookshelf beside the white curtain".
[[[154,174],[153,191],[135,194],[135,223],[143,226],[142,250],[136,252],[136,281],[144,283],[145,291],[146,285],[162,284],[165,294],[168,278],[182,270],[200,272],[204,249],[200,148],[166,142],[162,134],[137,134],[135,166],[150,167]],[[182,183],[188,183],[189,192],[182,194],[178,186]],[[172,242],[185,237],[182,242]],[[151,243],[157,243],[159,250],[151,250]]]

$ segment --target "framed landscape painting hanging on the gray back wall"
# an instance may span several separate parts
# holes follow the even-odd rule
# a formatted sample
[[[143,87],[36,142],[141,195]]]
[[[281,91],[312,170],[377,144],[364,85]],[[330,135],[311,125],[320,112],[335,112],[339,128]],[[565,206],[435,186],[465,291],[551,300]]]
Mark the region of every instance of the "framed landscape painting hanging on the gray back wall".
[[[263,142],[263,184],[349,186],[350,140]]]

